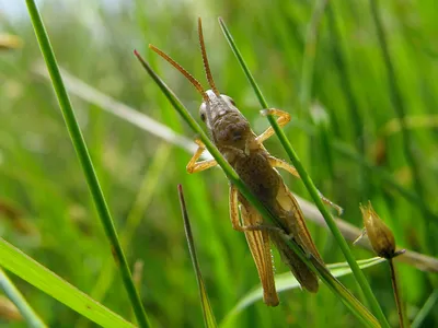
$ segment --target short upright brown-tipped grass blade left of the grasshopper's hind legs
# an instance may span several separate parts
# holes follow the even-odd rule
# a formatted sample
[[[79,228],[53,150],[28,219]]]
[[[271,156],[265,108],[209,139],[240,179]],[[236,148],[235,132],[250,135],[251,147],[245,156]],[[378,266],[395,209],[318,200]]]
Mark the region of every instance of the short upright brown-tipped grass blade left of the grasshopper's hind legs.
[[[178,185],[178,196],[181,203],[181,212],[183,213],[183,220],[184,220],[185,236],[187,238],[188,250],[191,253],[193,268],[196,272],[196,280],[198,282],[198,288],[199,288],[200,303],[203,304],[204,323],[207,328],[215,328],[217,327],[216,318],[210,305],[210,301],[208,300],[208,294],[206,286],[204,284],[203,276],[200,273],[199,263],[196,256],[195,242],[193,239],[192,227],[191,227],[191,222],[188,220],[188,213],[184,200],[182,185]]]

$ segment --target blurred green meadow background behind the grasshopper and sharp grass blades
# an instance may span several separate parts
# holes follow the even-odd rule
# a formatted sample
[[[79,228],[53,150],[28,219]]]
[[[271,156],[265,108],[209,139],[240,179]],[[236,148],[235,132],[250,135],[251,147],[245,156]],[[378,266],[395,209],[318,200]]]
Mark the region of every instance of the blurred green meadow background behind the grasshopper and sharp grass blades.
[[[387,74],[369,1],[46,0],[39,5],[64,69],[188,139],[195,136],[132,50],[146,56],[197,117],[199,95],[151,54],[148,44],[166,51],[206,85],[196,32],[201,16],[217,86],[234,98],[254,130],[262,132],[267,120],[258,115],[256,97],[220,32],[217,17],[222,16],[268,103],[291,114],[285,131],[319,189],[345,209],[343,218],[361,227],[358,204],[371,200],[399,246],[437,254],[435,1],[379,2],[395,83],[410,118],[414,171],[406,161],[396,115],[400,106],[392,101],[394,80]],[[0,52],[1,236],[131,318],[53,87],[37,73],[42,55],[24,1],[0,0],[0,33],[15,34],[24,42],[21,49]],[[108,114],[83,95],[70,97],[116,227],[124,235],[128,260],[132,266],[143,262],[141,297],[151,323],[155,327],[204,325],[177,184],[185,188],[201,271],[221,321],[258,283],[244,235],[231,227],[223,173],[210,169],[188,175],[185,166],[191,154],[183,148]],[[266,147],[286,159],[275,137]],[[370,165],[362,165],[364,161]],[[299,180],[287,175],[285,180],[295,192],[309,198]],[[313,223],[309,227],[327,263],[344,261],[326,230]],[[358,259],[372,256],[359,248],[355,254]],[[286,271],[275,257],[277,272]],[[399,265],[399,271],[413,320],[436,288],[436,276],[406,265]],[[390,323],[396,326],[387,265],[368,269],[366,274]],[[48,295],[11,278],[50,327],[92,326]],[[350,277],[342,282],[360,296]],[[235,327],[345,327],[357,323],[325,286],[318,295],[285,292],[280,301],[276,308],[267,308],[263,302],[250,306]],[[435,325],[438,312],[433,311],[424,327]]]

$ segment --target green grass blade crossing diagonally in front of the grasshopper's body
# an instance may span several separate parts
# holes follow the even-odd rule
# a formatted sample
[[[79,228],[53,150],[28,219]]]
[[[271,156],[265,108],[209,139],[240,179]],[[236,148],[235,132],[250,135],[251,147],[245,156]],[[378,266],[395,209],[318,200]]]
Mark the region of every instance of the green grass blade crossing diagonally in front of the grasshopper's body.
[[[269,210],[263,206],[256,197],[249,190],[249,188],[243,184],[240,179],[239,175],[234,172],[234,169],[230,166],[230,164],[223,159],[222,154],[216,148],[216,145],[210,141],[207,134],[203,131],[200,126],[196,122],[196,120],[192,117],[188,110],[184,107],[181,101],[174,95],[174,93],[165,85],[165,83],[155,74],[155,72],[151,69],[148,62],[141,58],[141,56],[135,51],[138,60],[145,68],[145,70],[149,73],[149,75],[153,79],[153,81],[158,84],[164,95],[168,97],[169,102],[175,108],[175,110],[183,117],[183,119],[187,122],[187,125],[199,136],[200,140],[204,142],[206,149],[210,152],[210,154],[218,162],[220,167],[223,169],[228,179],[231,184],[233,184],[239,191],[243,195],[243,197],[263,215],[265,220],[276,224],[278,227],[283,229],[279,220],[273,215]],[[314,266],[314,262],[309,259],[303,253],[300,246],[298,246],[293,241],[285,239],[287,245],[300,257],[300,259],[306,262],[311,270],[313,270],[316,274],[321,277],[322,280],[327,284],[328,288],[344,302],[347,304],[348,308],[367,326],[369,327],[378,327],[379,323],[376,318],[370,314],[370,312],[358,302],[342,284],[338,282],[325,268],[319,267],[318,269]],[[320,272],[320,271],[321,272]],[[328,274],[326,274],[328,272]],[[339,292],[342,290],[343,292]],[[351,301],[354,300],[354,301]]]

